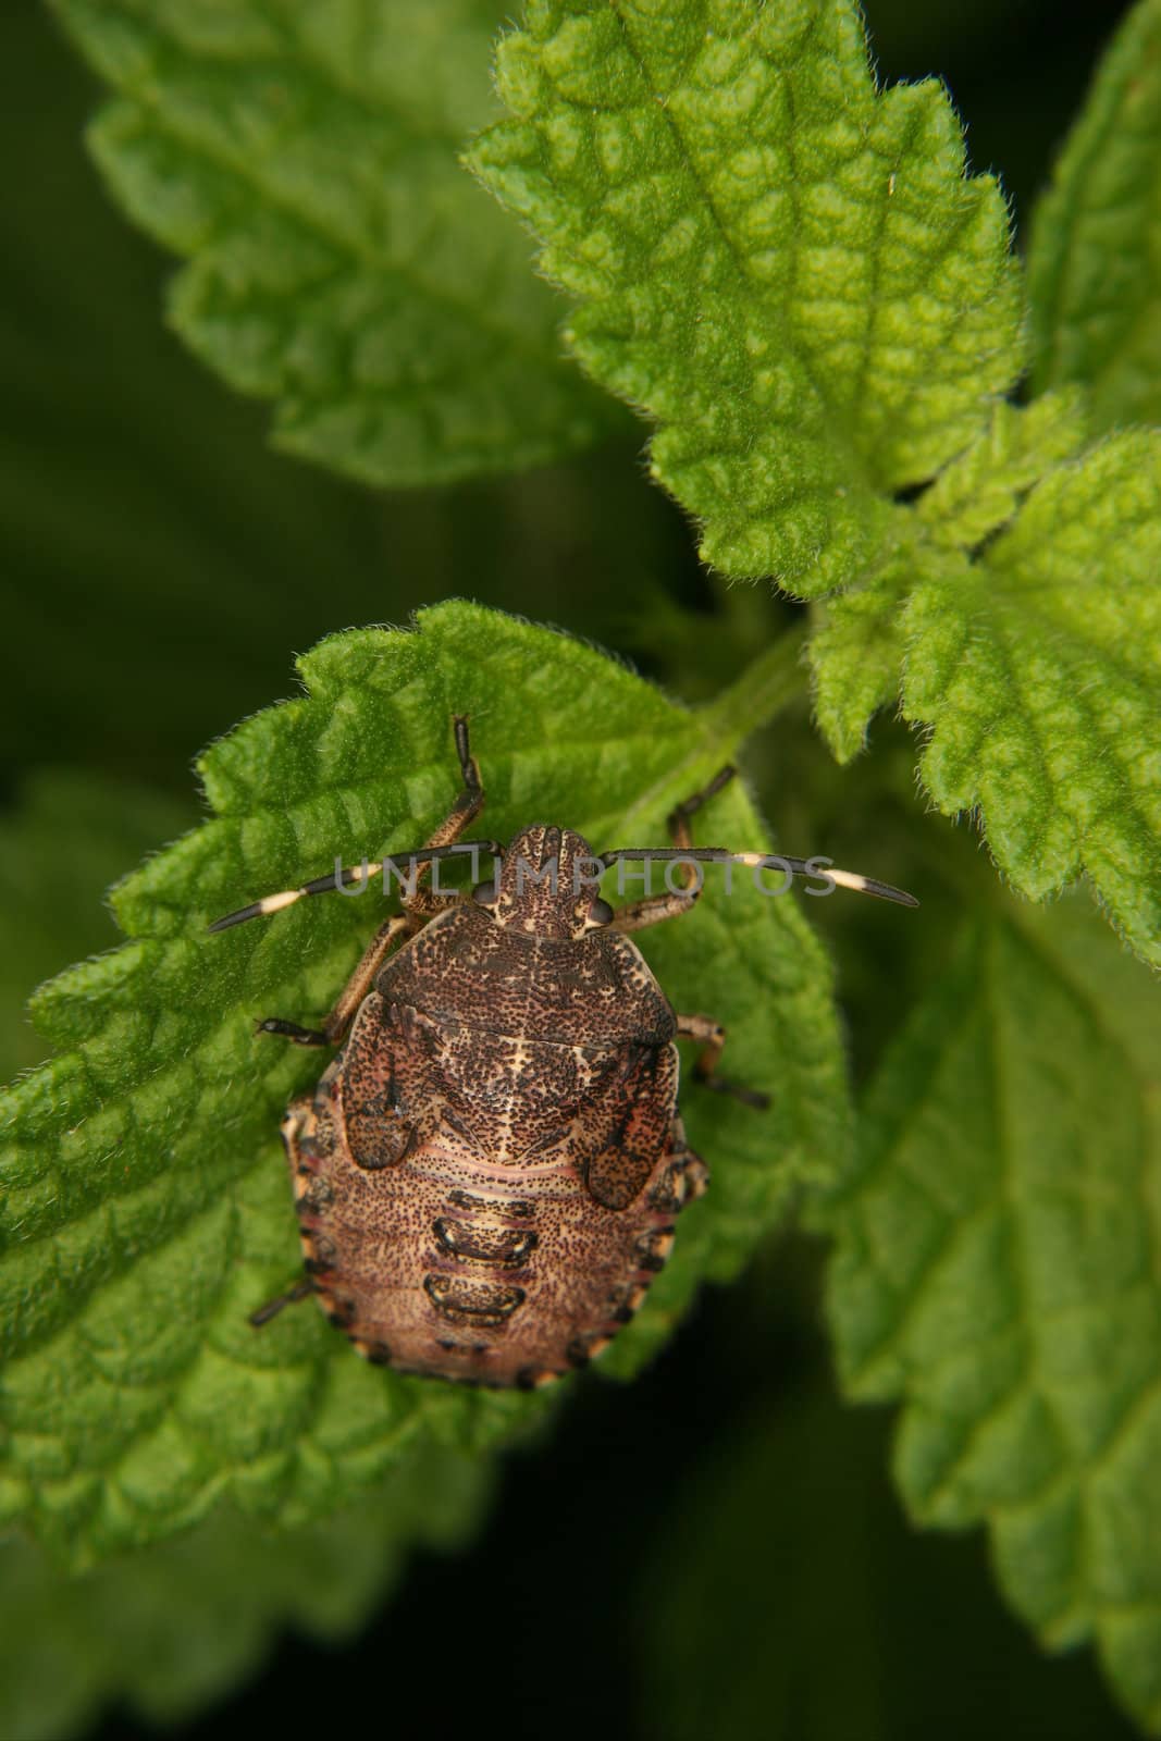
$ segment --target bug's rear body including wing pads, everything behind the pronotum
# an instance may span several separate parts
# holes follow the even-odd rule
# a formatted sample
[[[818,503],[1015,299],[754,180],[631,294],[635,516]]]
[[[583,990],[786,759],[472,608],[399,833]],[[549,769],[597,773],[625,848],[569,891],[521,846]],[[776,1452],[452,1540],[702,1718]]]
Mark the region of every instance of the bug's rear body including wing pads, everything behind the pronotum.
[[[320,1302],[404,1372],[507,1386],[583,1365],[701,1189],[675,1088],[672,1046],[602,1053],[378,1012],[285,1126]]]

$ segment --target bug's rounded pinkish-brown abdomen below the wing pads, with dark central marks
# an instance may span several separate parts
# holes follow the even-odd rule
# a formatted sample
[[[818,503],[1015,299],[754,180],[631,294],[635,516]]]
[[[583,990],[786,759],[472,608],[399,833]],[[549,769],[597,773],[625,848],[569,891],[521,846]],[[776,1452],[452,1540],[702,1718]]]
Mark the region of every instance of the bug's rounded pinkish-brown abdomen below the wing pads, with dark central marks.
[[[641,1200],[616,1212],[564,1166],[505,1175],[446,1153],[364,1173],[339,1151],[299,1151],[298,1165],[308,1267],[355,1346],[402,1372],[501,1386],[606,1346],[703,1177],[693,1156],[665,1151]]]

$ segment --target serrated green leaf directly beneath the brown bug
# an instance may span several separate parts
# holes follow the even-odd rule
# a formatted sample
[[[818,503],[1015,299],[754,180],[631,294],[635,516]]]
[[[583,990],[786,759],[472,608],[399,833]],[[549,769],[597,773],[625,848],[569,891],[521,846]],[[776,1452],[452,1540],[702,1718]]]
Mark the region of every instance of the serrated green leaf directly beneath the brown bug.
[[[249,1328],[298,1273],[277,1123],[320,1069],[256,1036],[254,1018],[322,1013],[376,912],[313,900],[221,937],[205,921],[336,853],[418,844],[456,792],[453,712],[473,717],[489,830],[560,820],[602,846],[663,843],[672,804],[757,723],[745,681],[689,714],[580,642],[468,604],[423,613],[411,634],[336,635],[299,670],[305,700],[205,756],[216,818],[115,891],[131,942],[38,994],[63,1055],[5,1097],[0,1501],[73,1555],[167,1534],[219,1497],[305,1520],[407,1445],[486,1443],[543,1402],[372,1368],[310,1307]],[[761,663],[755,705],[769,682]],[[707,827],[762,843],[740,789]],[[740,877],[644,947],[677,1008],[731,1025],[731,1074],[776,1099],[762,1116],[684,1095],[714,1186],[614,1344],[620,1368],[701,1274],[740,1266],[795,1177],[839,1161],[846,1139],[829,970],[792,900]]]

